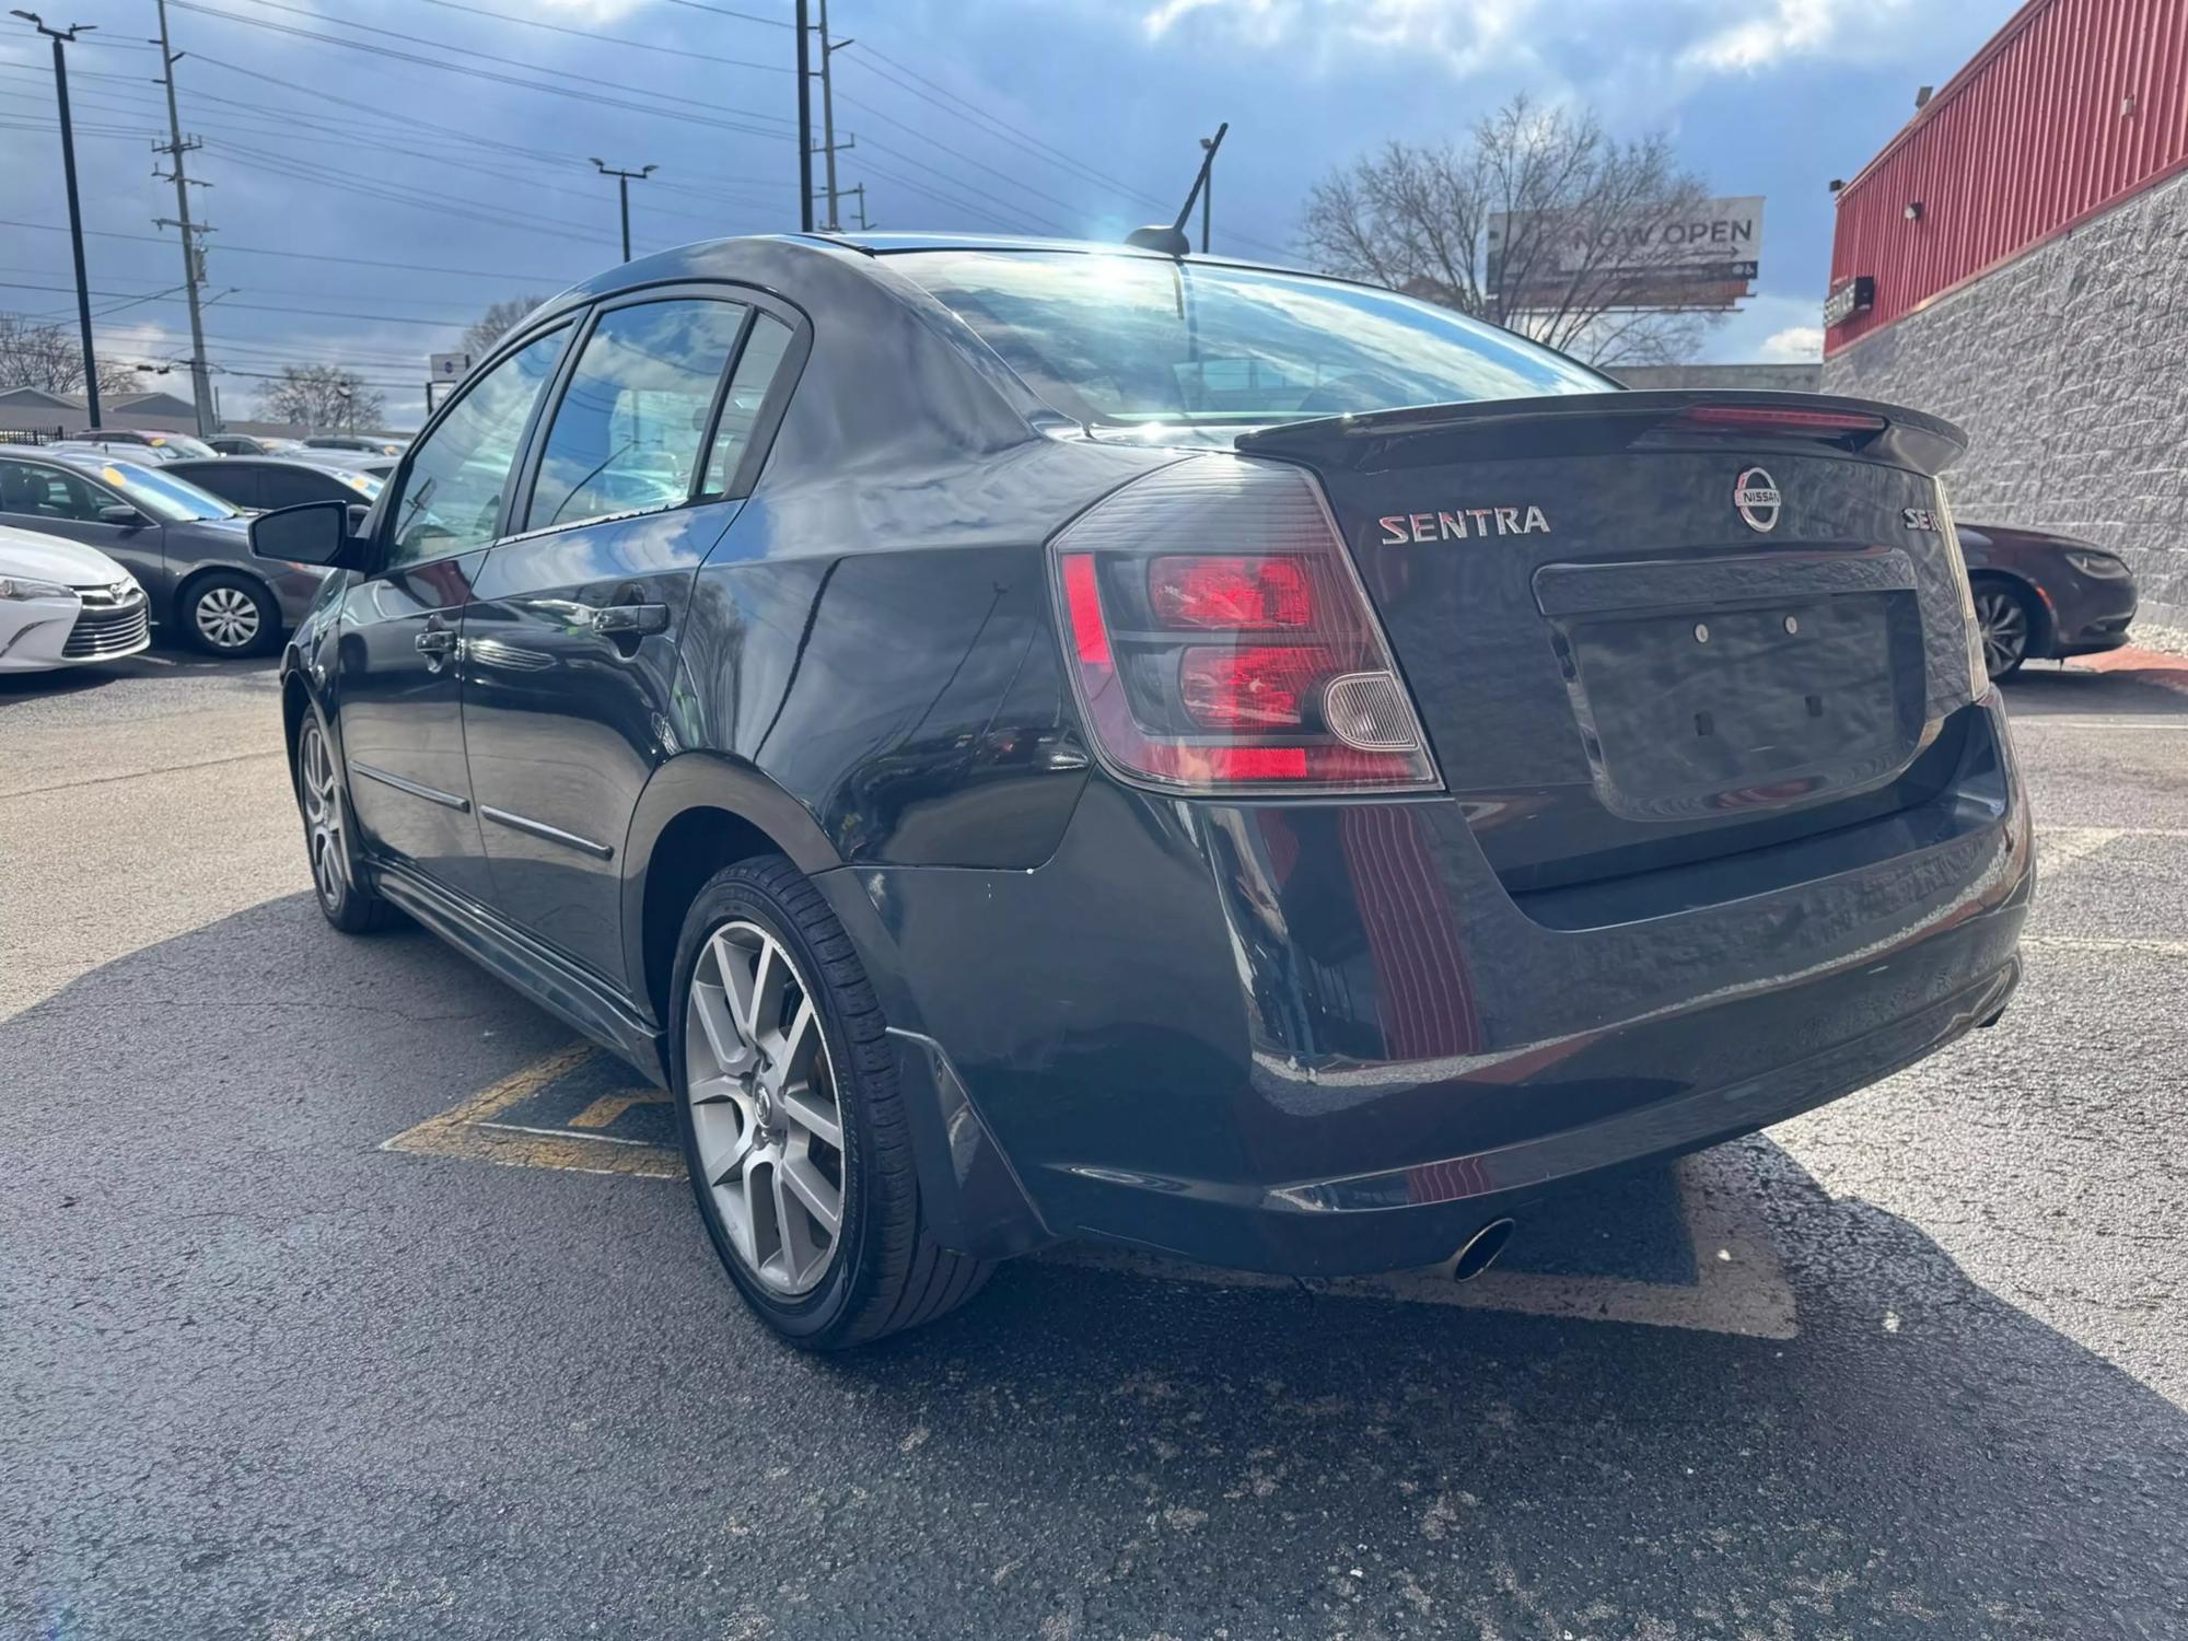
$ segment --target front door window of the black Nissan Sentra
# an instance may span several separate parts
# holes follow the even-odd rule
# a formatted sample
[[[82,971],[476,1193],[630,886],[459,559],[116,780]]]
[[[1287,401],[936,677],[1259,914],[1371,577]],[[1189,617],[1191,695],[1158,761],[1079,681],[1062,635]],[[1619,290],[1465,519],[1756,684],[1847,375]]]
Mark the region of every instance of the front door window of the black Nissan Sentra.
[[[424,435],[394,510],[389,569],[462,554],[494,538],[516,446],[567,339],[569,326],[527,341],[470,383]]]

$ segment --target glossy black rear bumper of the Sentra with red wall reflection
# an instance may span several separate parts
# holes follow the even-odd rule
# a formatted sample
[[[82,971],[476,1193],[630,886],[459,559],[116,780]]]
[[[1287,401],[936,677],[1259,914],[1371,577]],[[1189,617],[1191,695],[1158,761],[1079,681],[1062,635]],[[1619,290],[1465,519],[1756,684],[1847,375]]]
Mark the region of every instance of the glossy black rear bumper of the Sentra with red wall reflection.
[[[1037,871],[821,884],[917,1044],[945,1238],[1427,1265],[1553,1182],[1777,1122],[1998,1015],[2028,816],[1995,696],[1967,711],[1934,803],[1597,928],[1529,917],[1448,799],[1094,783]]]

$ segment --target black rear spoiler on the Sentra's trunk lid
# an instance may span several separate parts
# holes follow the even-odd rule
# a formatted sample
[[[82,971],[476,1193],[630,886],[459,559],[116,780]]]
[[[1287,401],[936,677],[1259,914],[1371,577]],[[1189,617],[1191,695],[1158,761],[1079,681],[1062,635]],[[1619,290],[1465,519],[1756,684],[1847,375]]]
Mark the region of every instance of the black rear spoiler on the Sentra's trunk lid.
[[[1967,451],[1941,416],[1869,398],[1755,389],[1630,389],[1486,398],[1280,422],[1238,438],[1247,455],[1378,473],[1457,459],[1615,455],[1637,444],[1809,446],[1936,475]]]

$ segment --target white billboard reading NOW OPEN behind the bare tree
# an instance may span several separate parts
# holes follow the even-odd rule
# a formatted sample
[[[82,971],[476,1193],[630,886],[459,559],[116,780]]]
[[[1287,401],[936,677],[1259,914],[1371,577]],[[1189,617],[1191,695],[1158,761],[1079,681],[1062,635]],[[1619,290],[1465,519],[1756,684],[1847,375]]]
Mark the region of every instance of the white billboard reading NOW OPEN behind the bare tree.
[[[1729,309],[1750,295],[1761,252],[1761,195],[1610,223],[1553,210],[1497,212],[1488,228],[1488,289],[1521,309],[1562,302],[1575,284],[1608,291],[1610,306],[1621,309]]]

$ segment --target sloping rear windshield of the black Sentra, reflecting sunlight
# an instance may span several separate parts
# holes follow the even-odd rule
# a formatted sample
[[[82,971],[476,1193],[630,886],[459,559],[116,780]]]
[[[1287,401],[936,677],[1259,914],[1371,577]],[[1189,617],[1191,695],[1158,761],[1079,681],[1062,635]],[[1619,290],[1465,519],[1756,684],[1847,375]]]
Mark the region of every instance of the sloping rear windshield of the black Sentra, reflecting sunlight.
[[[1265,424],[1617,389],[1510,330],[1304,274],[985,249],[891,265],[1081,422]]]

